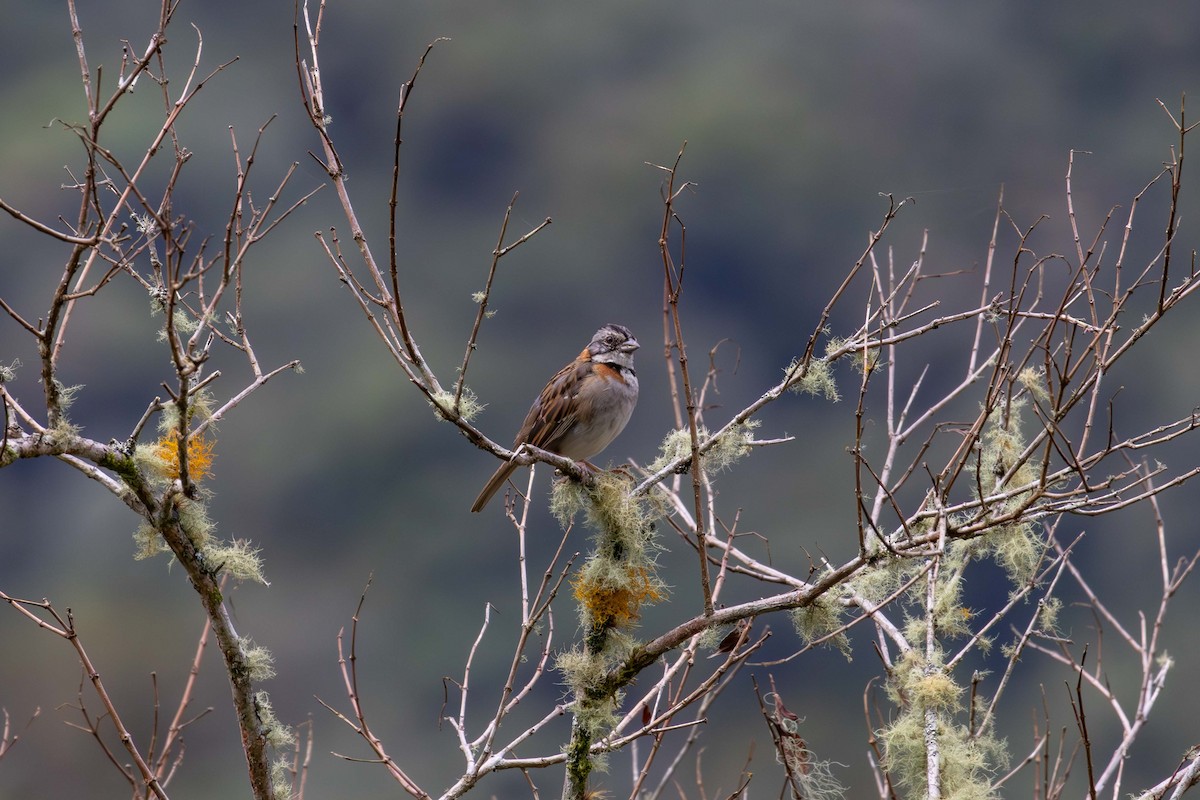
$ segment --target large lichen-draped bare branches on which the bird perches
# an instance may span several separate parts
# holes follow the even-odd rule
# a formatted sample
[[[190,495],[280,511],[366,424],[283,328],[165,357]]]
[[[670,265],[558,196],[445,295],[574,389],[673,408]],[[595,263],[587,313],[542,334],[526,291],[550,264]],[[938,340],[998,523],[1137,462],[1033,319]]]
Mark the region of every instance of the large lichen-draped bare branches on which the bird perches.
[[[325,113],[328,98],[318,60],[324,11],[323,2],[316,12],[308,4],[298,5],[296,70],[305,107],[322,144],[320,163],[342,204],[356,249],[356,259],[352,259],[343,252],[336,231],[322,233],[318,240],[326,258],[389,355],[434,407],[439,419],[454,425],[474,446],[499,458],[521,464],[546,462],[575,479],[556,486],[552,510],[564,536],[578,527],[595,536],[588,554],[572,567],[574,575],[568,578],[565,571],[558,573],[556,583],[569,582],[580,614],[578,642],[556,663],[570,687],[570,702],[547,708],[524,730],[505,736],[510,744],[500,745],[498,732],[505,720],[503,709],[508,708],[502,698],[497,705],[500,711],[485,724],[484,739],[468,734],[466,709],[478,698],[475,685],[468,685],[468,676],[478,668],[474,652],[496,630],[487,615],[458,686],[460,711],[451,717],[464,759],[463,774],[442,796],[460,796],[487,774],[503,769],[523,770],[535,787],[532,770],[562,764],[563,795],[584,798],[594,790],[594,770],[602,754],[653,736],[650,756],[641,762],[638,756],[632,757],[632,772],[638,776],[636,786],[643,787],[652,763],[664,760],[658,754],[664,752],[666,736],[688,728],[676,758],[666,759],[662,768],[665,775],[659,786],[667,786],[680,769],[682,754],[696,741],[698,733],[692,727],[700,718],[679,727],[666,721],[696,705],[708,708],[713,692],[725,685],[719,672],[695,668],[696,652],[718,631],[727,628],[728,634],[748,627],[751,620],[772,615],[786,615],[802,642],[792,656],[773,662],[778,664],[788,664],[820,644],[850,654],[854,646],[851,637],[857,630],[863,626],[874,630],[883,666],[882,685],[888,702],[898,709],[894,724],[881,724],[872,730],[872,736],[878,734],[877,752],[883,756],[876,764],[881,796],[896,786],[912,787],[929,796],[952,796],[967,789],[984,794],[994,790],[1004,780],[997,778],[996,771],[1006,763],[1007,751],[994,733],[992,711],[1000,708],[1000,697],[1010,685],[1008,676],[1016,668],[1016,658],[1013,656],[1008,662],[1010,669],[986,698],[979,694],[984,691],[982,678],[965,681],[956,670],[961,669],[965,652],[990,646],[1003,622],[1020,614],[1019,597],[1036,597],[1040,604],[1037,613],[1021,620],[1020,627],[1026,632],[1018,639],[1019,645],[1014,645],[1015,651],[1031,651],[1038,626],[1051,626],[1055,593],[1061,588],[1057,577],[1072,569],[1069,551],[1048,557],[1061,521],[1152,501],[1166,488],[1200,474],[1200,468],[1168,470],[1133,463],[1114,468],[1126,453],[1153,451],[1189,435],[1198,427],[1195,414],[1165,425],[1150,425],[1123,438],[1111,434],[1111,420],[1104,416],[1105,375],[1164,314],[1189,300],[1194,282],[1176,279],[1160,291],[1160,302],[1152,314],[1123,330],[1116,320],[1133,306],[1135,295],[1141,297],[1145,289],[1159,282],[1166,284],[1170,278],[1166,270],[1156,267],[1157,261],[1151,260],[1140,267],[1132,283],[1122,283],[1117,277],[1112,285],[1100,288],[1100,278],[1110,271],[1105,265],[1102,272],[1096,255],[1099,249],[1085,253],[1078,248],[1074,263],[1057,254],[1038,255],[1032,242],[1042,221],[1019,225],[1001,194],[982,271],[953,276],[977,281],[967,293],[973,300],[947,307],[948,299],[955,296],[953,293],[930,296],[930,287],[942,285],[952,276],[930,272],[928,236],[916,260],[904,269],[896,267],[894,253],[884,248],[892,223],[908,206],[907,200],[884,196],[887,206],[880,224],[869,233],[865,248],[832,291],[803,347],[788,363],[780,365],[779,379],[739,410],[709,422],[706,416],[712,417],[713,411],[702,398],[719,372],[716,356],[710,355],[703,381],[695,379],[680,313],[686,266],[679,200],[682,190],[689,186],[678,175],[680,151],[670,167],[660,167],[666,173],[660,219],[664,351],[677,429],[664,437],[659,458],[644,468],[588,480],[592,476],[553,453],[532,447],[509,451],[470,421],[475,397],[466,385],[464,373],[488,318],[488,301],[499,275],[497,264],[512,247],[544,229],[545,223],[506,245],[512,212],[509,204],[484,289],[474,294],[479,309],[466,337],[460,374],[452,391],[443,389],[433,366],[421,355],[420,332],[404,314],[404,308],[419,299],[401,297],[403,265],[396,248],[400,130],[430,48],[401,89],[389,206],[390,260],[384,266],[374,260],[358,222],[344,180],[344,163]],[[1171,174],[1170,169],[1165,174]],[[1134,207],[1156,181],[1135,198]],[[1069,194],[1068,182],[1068,205]],[[1133,230],[1132,215],[1133,210],[1130,224],[1120,234],[1117,275],[1129,269],[1123,259]],[[1070,219],[1074,225],[1073,212]],[[1106,224],[1108,219],[1102,223],[1097,241],[1105,234]],[[1006,266],[1001,261],[1008,253],[1012,260]],[[1066,278],[1055,271],[1063,266]],[[1050,285],[1058,294],[1046,291]],[[862,306],[847,311],[856,296],[862,299]],[[832,333],[834,329],[836,336]],[[911,354],[920,357],[918,343],[943,330],[959,333],[958,354],[962,356],[953,367],[942,365],[938,378],[947,380],[934,385],[926,365],[918,366],[914,378],[905,384],[905,371],[914,357]],[[740,534],[736,522],[728,525],[722,519],[715,483],[724,470],[746,469],[742,462],[756,447],[787,446],[792,441],[786,433],[761,433],[767,405],[793,395],[835,402],[840,398],[839,369],[853,371],[857,389],[854,439],[848,452],[854,465],[858,546],[853,555],[841,560],[810,558],[805,575],[773,560],[770,535]],[[876,411],[878,408],[883,410]],[[882,432],[878,451],[865,441],[872,426]],[[1106,439],[1099,434],[1105,427],[1110,431]],[[533,503],[528,494],[518,494],[506,507],[521,542],[523,614],[516,631],[518,656],[528,644],[529,621],[548,613],[548,606],[528,602],[523,542]],[[577,525],[580,519],[582,524]],[[666,546],[658,535],[660,524],[698,558],[701,569],[695,573],[695,584],[688,582],[698,590],[695,607],[680,600],[678,589],[672,591],[672,600],[666,597],[665,581],[654,559],[658,548]],[[718,536],[719,530],[727,535]],[[773,535],[791,540],[797,533],[804,531]],[[1001,569],[1012,587],[1013,600],[996,613],[977,619],[966,604],[962,588],[979,561]],[[557,569],[547,569],[545,575]],[[1046,576],[1054,577],[1046,579]],[[719,597],[728,591],[727,584],[738,582],[743,591],[754,593],[756,599],[721,607]],[[643,608],[659,602],[682,608],[684,613],[678,616],[683,621],[635,640],[634,624]],[[965,644],[950,650],[958,639]],[[736,655],[727,663],[744,663],[750,649],[760,646],[762,640],[734,644]],[[539,656],[539,664],[544,663]],[[641,686],[648,670],[658,664],[662,666],[661,681],[652,681],[649,688],[638,688],[635,694],[631,690],[635,680]],[[353,668],[352,663],[352,674]],[[506,692],[512,691],[514,674],[505,684]],[[533,686],[544,675],[545,669],[539,666],[526,686]],[[671,682],[689,679],[698,684],[692,687],[695,691],[684,691],[682,685]],[[964,687],[968,684],[970,705],[964,699]],[[349,697],[360,714],[360,698],[353,690]],[[794,730],[781,722],[787,715],[778,693],[769,700],[774,710],[767,709],[767,702],[760,698],[764,716],[776,726],[773,728],[776,745],[784,747]],[[990,710],[976,716],[977,702]],[[554,746],[540,756],[515,756],[516,744],[529,747],[550,722],[565,712],[572,715],[565,746]],[[361,716],[359,722],[348,715],[343,718],[360,730],[380,759],[395,764],[390,757],[385,758],[383,742],[366,729]],[[880,711],[877,718],[887,715]],[[479,741],[486,741],[487,747],[480,751]],[[806,745],[804,750],[808,752]],[[426,790],[408,778],[407,772],[402,777],[394,769],[392,775],[409,794],[426,796]],[[833,796],[839,783],[832,775],[823,775],[829,781],[822,786]]]

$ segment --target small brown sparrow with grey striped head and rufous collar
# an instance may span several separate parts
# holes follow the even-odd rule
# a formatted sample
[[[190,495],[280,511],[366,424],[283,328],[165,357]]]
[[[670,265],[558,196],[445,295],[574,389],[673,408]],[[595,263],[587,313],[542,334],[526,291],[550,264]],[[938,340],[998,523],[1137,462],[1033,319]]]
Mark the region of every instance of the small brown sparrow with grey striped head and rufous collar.
[[[607,447],[637,404],[637,339],[624,325],[610,324],[596,331],[583,351],[541,390],[512,449],[530,444],[587,462]],[[482,510],[516,468],[514,462],[500,464],[470,510]]]

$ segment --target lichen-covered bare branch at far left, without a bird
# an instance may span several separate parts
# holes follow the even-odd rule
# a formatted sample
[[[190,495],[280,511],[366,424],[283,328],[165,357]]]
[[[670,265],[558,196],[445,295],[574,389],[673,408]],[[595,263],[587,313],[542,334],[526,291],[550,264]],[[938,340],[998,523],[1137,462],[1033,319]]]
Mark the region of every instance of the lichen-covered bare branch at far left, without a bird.
[[[196,233],[192,223],[172,217],[169,211],[191,160],[191,152],[180,142],[176,124],[208,80],[232,62],[218,65],[202,77],[203,37],[197,30],[191,70],[178,94],[172,94],[166,62],[160,56],[175,10],[174,2],[162,4],[158,26],[145,50],[132,61],[122,60],[115,88],[108,96],[101,96],[97,76],[88,62],[84,28],[73,0],[68,0],[88,116],[84,124],[65,126],[76,134],[82,148],[83,167],[77,170],[76,181],[65,187],[78,193],[78,213],[72,223],[74,233],[64,236],[11,204],[4,205],[37,234],[61,242],[66,254],[61,277],[37,325],[29,324],[28,314],[11,303],[2,303],[4,311],[36,342],[43,397],[40,411],[35,413],[32,404],[20,403],[14,393],[19,371],[10,369],[12,374],[4,375],[0,399],[6,426],[0,468],[10,468],[25,458],[56,457],[66,462],[100,482],[138,515],[139,558],[169,552],[179,561],[199,595],[222,655],[233,690],[252,794],[268,799],[276,796],[271,750],[290,748],[289,733],[275,720],[269,699],[259,688],[272,674],[270,656],[238,633],[222,589],[226,577],[264,582],[263,566],[257,551],[247,542],[222,542],[212,535],[203,483],[212,470],[216,455],[214,423],[281,371],[299,369],[298,361],[270,371],[259,366],[242,314],[242,272],[254,246],[312,193],[281,207],[281,199],[289,191],[293,166],[276,184],[269,201],[256,205],[248,187],[263,130],[245,160],[236,133],[230,130],[238,180],[222,246],[212,254],[206,253],[204,246],[188,247]],[[106,122],[116,119],[139,76],[149,76],[161,89],[162,120],[151,144],[137,163],[127,168],[104,145]],[[160,199],[154,201],[145,187],[150,180],[146,175],[151,164],[162,162],[166,162],[168,178]],[[119,222],[130,217],[134,219],[132,235]],[[94,277],[97,273],[101,277]],[[162,384],[168,398],[156,398],[149,404],[132,435],[114,437],[104,444],[82,435],[72,422],[71,401],[80,390],[62,383],[60,362],[67,331],[78,325],[72,309],[120,278],[140,285],[150,297],[154,313],[161,315],[160,336],[168,350],[172,377],[169,384]],[[208,362],[212,348],[221,345],[229,345],[244,355],[252,379],[217,407],[215,386],[221,375],[209,372]],[[150,443],[140,441],[144,427],[154,417],[158,420],[158,437]],[[115,718],[114,709],[109,708],[108,712]],[[127,736],[122,735],[122,740]],[[128,744],[132,746],[132,741]],[[161,769],[155,775],[158,777],[148,778],[148,786],[161,794],[157,781],[164,783],[168,778]]]

